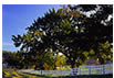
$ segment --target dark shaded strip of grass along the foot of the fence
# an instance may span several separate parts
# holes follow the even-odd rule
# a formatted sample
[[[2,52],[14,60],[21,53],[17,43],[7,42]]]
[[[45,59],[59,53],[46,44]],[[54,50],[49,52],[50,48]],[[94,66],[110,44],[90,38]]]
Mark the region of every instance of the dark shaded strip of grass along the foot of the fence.
[[[108,75],[81,75],[81,76],[45,76],[45,75],[37,75],[37,74],[29,74],[29,73],[23,73],[28,74],[31,76],[35,76],[37,78],[113,78],[112,74]]]

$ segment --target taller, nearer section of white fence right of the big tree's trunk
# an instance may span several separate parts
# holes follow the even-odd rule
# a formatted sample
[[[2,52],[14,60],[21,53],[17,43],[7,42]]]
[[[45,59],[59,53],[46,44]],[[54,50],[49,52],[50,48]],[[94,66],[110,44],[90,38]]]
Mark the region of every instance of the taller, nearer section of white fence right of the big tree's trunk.
[[[94,66],[82,66],[74,68],[76,75],[105,75],[113,74],[113,64],[106,65],[94,65]]]

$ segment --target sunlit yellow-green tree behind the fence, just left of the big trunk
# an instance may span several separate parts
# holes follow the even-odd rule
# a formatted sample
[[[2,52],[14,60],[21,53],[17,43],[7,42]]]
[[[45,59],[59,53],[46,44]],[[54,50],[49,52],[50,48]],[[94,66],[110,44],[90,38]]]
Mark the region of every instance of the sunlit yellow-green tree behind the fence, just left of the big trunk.
[[[65,60],[65,56],[64,55],[59,55],[59,54],[54,54],[49,52],[45,54],[44,58],[43,58],[43,64],[44,64],[44,69],[56,69],[58,66],[65,66],[66,60]]]

